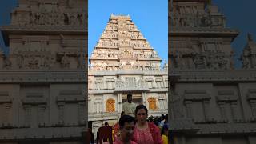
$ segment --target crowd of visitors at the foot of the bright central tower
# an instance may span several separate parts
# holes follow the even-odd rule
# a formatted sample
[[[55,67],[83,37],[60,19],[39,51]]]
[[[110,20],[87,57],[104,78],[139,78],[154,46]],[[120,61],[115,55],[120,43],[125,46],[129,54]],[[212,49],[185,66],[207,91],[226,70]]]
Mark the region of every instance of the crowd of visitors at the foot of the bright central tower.
[[[134,114],[131,114],[131,110],[134,110]],[[118,123],[114,126],[109,126],[105,122],[105,126],[102,127],[112,130],[112,136],[102,139],[106,143],[168,144],[168,114],[162,114],[160,118],[148,117],[146,106],[134,105],[131,94],[127,95],[127,102],[122,108],[121,118]],[[102,133],[99,130],[97,132],[97,143],[99,135]]]

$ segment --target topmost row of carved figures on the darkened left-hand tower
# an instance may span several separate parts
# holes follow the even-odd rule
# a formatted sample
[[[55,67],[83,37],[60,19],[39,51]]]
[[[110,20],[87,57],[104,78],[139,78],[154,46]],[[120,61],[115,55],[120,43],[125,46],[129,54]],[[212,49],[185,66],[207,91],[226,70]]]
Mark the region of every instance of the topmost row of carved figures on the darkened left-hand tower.
[[[85,25],[86,14],[77,10],[76,12],[65,12],[58,4],[39,3],[38,10],[28,10],[23,13],[15,11],[12,15],[12,22],[18,22],[19,25]]]

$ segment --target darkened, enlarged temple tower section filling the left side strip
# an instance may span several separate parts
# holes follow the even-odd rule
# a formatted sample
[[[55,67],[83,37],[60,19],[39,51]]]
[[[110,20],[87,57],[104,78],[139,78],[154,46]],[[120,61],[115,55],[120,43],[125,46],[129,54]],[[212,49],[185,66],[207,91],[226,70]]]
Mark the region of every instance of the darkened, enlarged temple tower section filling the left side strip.
[[[86,5],[19,0],[1,27],[0,142],[84,143]]]

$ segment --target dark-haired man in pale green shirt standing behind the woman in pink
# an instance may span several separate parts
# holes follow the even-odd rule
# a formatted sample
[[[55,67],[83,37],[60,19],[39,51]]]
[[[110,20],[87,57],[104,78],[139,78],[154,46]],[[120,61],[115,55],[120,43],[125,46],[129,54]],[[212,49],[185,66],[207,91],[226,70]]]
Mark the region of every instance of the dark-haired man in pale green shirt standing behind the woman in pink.
[[[122,104],[122,115],[130,115],[132,117],[134,117],[134,112],[136,109],[136,104],[133,101],[133,96],[132,94],[127,94],[127,102],[124,102]]]

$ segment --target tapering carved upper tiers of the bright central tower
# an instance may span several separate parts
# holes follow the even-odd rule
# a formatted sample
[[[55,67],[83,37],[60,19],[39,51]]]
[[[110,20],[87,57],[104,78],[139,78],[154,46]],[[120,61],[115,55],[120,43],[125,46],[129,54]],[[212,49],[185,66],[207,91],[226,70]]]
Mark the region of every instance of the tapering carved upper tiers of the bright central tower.
[[[106,59],[108,63],[101,59]],[[160,70],[160,61],[157,52],[143,38],[130,16],[120,19],[112,15],[91,55],[90,69]]]

